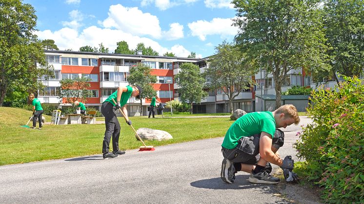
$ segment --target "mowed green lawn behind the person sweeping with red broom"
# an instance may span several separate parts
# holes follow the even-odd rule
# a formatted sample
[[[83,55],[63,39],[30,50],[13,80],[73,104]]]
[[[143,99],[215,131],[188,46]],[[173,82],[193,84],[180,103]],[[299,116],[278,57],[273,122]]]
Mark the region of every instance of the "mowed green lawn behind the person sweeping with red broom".
[[[0,107],[0,165],[101,154],[105,124],[44,125],[42,130],[20,127],[26,124],[31,114],[31,111]],[[45,118],[46,122],[50,122],[50,116],[45,115]],[[129,117],[129,119],[136,130],[158,129],[167,131],[173,136],[173,139],[168,141],[145,141],[147,146],[155,147],[222,137],[234,122],[229,117],[150,119]],[[142,146],[125,120],[119,118],[119,121],[120,149],[136,149]],[[32,121],[28,125],[32,126]],[[111,143],[110,147],[112,148]]]

